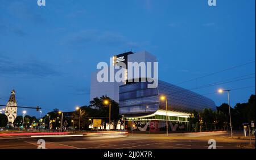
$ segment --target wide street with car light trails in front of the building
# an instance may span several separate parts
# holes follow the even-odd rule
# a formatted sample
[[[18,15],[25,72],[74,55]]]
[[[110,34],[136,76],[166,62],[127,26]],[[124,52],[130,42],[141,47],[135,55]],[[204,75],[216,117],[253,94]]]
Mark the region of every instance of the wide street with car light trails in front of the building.
[[[5,132],[5,131],[4,131]],[[2,132],[2,134],[7,134]],[[208,140],[216,140],[217,149],[251,148],[250,140],[242,133],[230,138],[227,132],[172,133],[164,134],[122,134],[79,137],[30,137],[5,136],[0,134],[0,149],[35,149],[39,139],[46,141],[47,149],[207,149]],[[238,137],[240,137],[238,139]],[[255,136],[251,140],[255,148]]]

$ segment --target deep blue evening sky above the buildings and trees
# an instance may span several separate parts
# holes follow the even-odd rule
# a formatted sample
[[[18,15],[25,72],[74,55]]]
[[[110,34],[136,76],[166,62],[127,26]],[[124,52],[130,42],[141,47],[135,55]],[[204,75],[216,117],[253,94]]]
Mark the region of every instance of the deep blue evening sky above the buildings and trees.
[[[15,89],[18,105],[43,114],[88,105],[97,63],[131,49],[154,54],[159,79],[172,84],[252,62],[179,84],[229,81],[193,91],[218,106],[227,102],[218,88],[249,87],[230,93],[232,106],[246,102],[255,94],[255,0],[0,0],[0,104]]]

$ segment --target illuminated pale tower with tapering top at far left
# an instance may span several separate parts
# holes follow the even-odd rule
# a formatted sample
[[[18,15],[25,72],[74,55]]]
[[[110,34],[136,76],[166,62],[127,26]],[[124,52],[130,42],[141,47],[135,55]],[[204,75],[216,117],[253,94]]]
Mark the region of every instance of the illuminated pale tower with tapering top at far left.
[[[14,106],[14,107],[10,107]],[[5,107],[5,115],[8,118],[8,124],[13,126],[14,119],[17,116],[17,103],[15,100],[15,90],[11,91],[11,96]]]

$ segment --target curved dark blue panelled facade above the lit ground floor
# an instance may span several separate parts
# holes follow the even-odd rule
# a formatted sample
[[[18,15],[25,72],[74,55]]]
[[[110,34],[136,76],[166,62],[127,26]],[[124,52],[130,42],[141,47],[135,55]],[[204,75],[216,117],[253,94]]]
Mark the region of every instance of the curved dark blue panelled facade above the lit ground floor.
[[[190,90],[159,81],[158,88],[147,88],[147,82],[137,82],[119,87],[119,114],[125,116],[142,116],[165,110],[164,101],[168,100],[168,110],[191,113],[193,110],[210,108],[216,110],[215,103],[207,97]]]

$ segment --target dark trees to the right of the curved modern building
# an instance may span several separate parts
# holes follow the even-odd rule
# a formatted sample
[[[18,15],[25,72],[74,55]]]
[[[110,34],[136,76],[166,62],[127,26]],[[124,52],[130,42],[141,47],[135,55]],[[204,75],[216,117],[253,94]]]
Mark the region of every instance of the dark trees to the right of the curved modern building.
[[[255,94],[252,94],[246,103],[237,103],[230,107],[233,129],[242,129],[242,123],[255,122]],[[216,107],[216,111],[204,109],[203,111],[193,111],[189,117],[191,130],[199,131],[226,131],[230,129],[229,105],[222,103]]]

